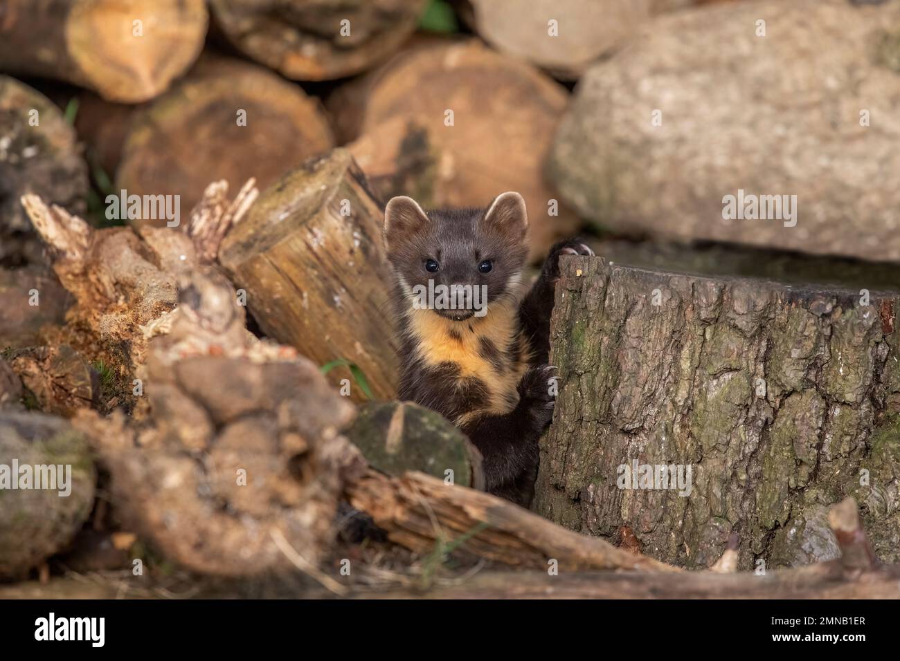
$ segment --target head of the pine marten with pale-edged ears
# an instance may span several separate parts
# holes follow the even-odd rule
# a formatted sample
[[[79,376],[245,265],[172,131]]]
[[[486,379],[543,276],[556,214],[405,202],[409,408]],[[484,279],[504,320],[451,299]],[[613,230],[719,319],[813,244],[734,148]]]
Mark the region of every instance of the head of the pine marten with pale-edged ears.
[[[518,296],[528,254],[525,201],[504,192],[487,209],[426,213],[395,197],[384,210],[384,245],[410,306],[454,321],[484,317]]]

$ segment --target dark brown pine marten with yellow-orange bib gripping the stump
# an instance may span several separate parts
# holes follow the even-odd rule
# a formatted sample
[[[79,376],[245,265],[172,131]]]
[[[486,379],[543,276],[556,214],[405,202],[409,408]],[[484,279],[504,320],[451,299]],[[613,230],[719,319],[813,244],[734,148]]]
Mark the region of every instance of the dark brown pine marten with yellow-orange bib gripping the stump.
[[[392,198],[384,244],[396,275],[401,399],[451,420],[481,451],[487,490],[528,506],[554,408],[546,363],[559,256],[593,253],[574,239],[556,244],[523,296],[528,219],[518,192],[487,209],[428,213]]]

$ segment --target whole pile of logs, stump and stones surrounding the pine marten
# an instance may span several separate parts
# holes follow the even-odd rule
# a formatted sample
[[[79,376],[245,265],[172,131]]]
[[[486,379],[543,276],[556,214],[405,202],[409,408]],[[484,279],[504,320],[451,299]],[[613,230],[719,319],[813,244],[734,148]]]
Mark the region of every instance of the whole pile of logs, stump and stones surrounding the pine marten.
[[[453,4],[0,0],[0,580],[900,597],[896,5]],[[395,400],[382,236],[508,190],[605,255],[532,511]]]

